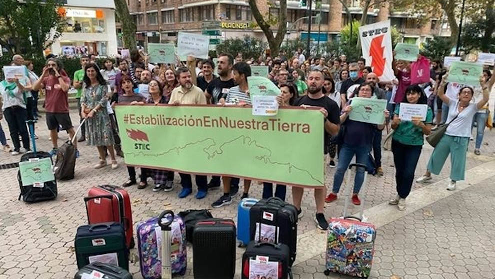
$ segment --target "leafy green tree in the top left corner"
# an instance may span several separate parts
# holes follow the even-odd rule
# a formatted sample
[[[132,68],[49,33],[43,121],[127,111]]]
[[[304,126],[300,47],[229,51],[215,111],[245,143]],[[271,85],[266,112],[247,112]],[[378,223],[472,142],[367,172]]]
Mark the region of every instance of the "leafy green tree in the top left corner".
[[[9,56],[42,56],[61,35],[65,20],[57,0],[0,0],[0,7],[0,44]]]

